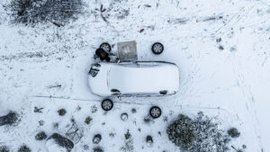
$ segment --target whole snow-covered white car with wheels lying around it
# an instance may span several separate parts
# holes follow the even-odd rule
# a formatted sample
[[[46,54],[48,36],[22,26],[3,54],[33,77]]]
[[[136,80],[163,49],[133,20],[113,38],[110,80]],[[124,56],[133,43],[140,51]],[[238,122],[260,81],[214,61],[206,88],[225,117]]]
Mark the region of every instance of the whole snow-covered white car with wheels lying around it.
[[[161,61],[98,62],[89,71],[91,92],[98,96],[155,96],[175,94],[179,70]]]

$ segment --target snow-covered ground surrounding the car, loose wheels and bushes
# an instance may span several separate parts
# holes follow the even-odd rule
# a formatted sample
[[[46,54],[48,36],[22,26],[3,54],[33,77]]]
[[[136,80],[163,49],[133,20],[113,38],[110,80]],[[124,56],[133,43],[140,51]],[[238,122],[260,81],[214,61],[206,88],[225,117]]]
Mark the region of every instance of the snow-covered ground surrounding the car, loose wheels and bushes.
[[[0,126],[0,146],[16,151],[25,144],[33,152],[45,152],[45,140],[37,141],[35,135],[41,130],[48,135],[64,133],[73,118],[84,137],[72,151],[95,147],[121,151],[127,130],[135,152],[179,151],[168,140],[166,127],[180,113],[193,117],[204,112],[216,117],[223,130],[236,127],[241,132],[229,146],[270,151],[269,0],[85,0],[86,13],[76,22],[34,28],[11,24],[3,7],[8,3],[0,2],[0,116],[14,111],[21,121]],[[101,4],[112,7],[107,22],[94,13]],[[129,13],[119,17],[121,10]],[[103,98],[91,94],[87,85],[94,50],[107,41],[116,51],[117,42],[128,40],[137,41],[139,60],[168,61],[179,67],[179,92],[112,98],[112,111],[104,112]],[[156,41],[165,46],[159,56],[150,50]],[[163,113],[147,124],[144,118],[151,105]],[[94,106],[97,112],[92,112]],[[42,107],[42,113],[33,112],[34,107]],[[64,116],[58,115],[61,108],[67,110]],[[131,112],[133,108],[137,112]],[[129,114],[128,121],[121,121],[122,112]],[[93,119],[90,125],[85,124],[87,116]],[[56,122],[58,128],[53,127]],[[96,133],[103,136],[98,145],[92,142]],[[152,148],[145,141],[148,135],[154,139]]]

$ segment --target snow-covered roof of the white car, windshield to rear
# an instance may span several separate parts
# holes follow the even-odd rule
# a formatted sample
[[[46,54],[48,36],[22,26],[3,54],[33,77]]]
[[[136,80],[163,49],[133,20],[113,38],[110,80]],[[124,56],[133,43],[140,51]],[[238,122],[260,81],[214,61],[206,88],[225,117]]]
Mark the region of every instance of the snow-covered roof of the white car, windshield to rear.
[[[108,81],[109,89],[117,89],[121,94],[175,92],[179,87],[179,70],[175,64],[163,62],[114,64]]]

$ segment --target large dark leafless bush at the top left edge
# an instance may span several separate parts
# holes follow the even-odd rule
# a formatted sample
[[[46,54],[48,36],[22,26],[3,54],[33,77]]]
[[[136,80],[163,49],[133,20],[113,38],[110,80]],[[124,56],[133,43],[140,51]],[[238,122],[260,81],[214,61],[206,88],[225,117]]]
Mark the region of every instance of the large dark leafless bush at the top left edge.
[[[76,20],[83,5],[82,0],[12,0],[6,7],[14,23],[35,26],[52,22],[61,26]]]

